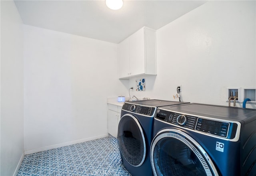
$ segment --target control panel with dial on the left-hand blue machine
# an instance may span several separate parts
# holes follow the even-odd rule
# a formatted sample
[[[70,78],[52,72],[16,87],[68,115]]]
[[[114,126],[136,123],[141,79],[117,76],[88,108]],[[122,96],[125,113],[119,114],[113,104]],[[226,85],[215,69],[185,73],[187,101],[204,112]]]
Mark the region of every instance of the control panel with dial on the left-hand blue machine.
[[[130,103],[124,103],[122,109],[125,111],[136,113],[136,114],[152,116],[156,108],[148,107],[148,106],[141,106],[141,105],[136,105],[136,104],[130,104]]]

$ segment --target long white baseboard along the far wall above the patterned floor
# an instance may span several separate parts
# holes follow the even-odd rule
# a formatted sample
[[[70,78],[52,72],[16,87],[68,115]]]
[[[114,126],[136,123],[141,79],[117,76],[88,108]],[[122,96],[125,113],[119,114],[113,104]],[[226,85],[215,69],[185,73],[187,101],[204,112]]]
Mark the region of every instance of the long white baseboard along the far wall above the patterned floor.
[[[45,146],[45,147],[41,147],[41,148],[26,150],[24,153],[26,155],[26,154],[36,153],[36,152],[42,152],[44,150],[50,150],[50,149],[53,149],[53,148],[59,148],[59,147],[68,146],[68,145],[72,145],[72,144],[78,144],[78,143],[81,143],[81,142],[86,142],[86,141],[89,141],[89,140],[95,140],[95,139],[104,138],[104,137],[108,137],[108,136],[109,136],[109,134],[103,134],[103,135],[100,135],[100,136],[93,136],[93,137],[90,137],[90,138],[84,138],[84,139],[80,139],[80,140],[64,142],[64,143],[61,143],[61,144],[55,144],[55,145]]]

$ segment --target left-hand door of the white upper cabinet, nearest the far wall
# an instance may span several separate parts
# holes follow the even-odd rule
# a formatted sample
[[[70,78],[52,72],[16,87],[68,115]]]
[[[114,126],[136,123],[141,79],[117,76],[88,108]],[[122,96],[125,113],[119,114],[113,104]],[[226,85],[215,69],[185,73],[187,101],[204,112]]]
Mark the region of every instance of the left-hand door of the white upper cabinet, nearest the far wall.
[[[129,38],[118,44],[118,75],[119,78],[130,76]]]

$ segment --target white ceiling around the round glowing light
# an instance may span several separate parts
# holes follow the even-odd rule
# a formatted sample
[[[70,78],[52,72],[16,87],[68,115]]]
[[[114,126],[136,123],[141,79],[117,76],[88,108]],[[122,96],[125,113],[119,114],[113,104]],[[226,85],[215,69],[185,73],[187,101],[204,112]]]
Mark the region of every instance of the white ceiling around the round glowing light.
[[[15,0],[24,24],[119,43],[143,26],[165,26],[206,1],[123,0],[110,10],[104,0]]]

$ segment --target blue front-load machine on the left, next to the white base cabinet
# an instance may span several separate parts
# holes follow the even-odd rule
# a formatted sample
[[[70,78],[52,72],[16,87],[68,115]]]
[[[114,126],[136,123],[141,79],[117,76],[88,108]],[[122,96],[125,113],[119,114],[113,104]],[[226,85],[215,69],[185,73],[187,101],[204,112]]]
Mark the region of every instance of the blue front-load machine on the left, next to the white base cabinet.
[[[150,144],[157,107],[184,102],[145,100],[127,101],[118,124],[118,144],[125,168],[132,176],[152,176]]]

